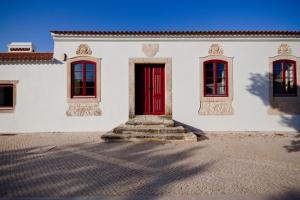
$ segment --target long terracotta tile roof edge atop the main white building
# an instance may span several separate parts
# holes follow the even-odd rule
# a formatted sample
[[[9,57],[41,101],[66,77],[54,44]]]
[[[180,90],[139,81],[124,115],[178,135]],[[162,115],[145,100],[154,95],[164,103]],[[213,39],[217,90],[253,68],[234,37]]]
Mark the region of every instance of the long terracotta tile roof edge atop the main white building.
[[[241,35],[241,36],[256,36],[256,35],[289,35],[300,37],[300,31],[51,31],[58,35]]]

